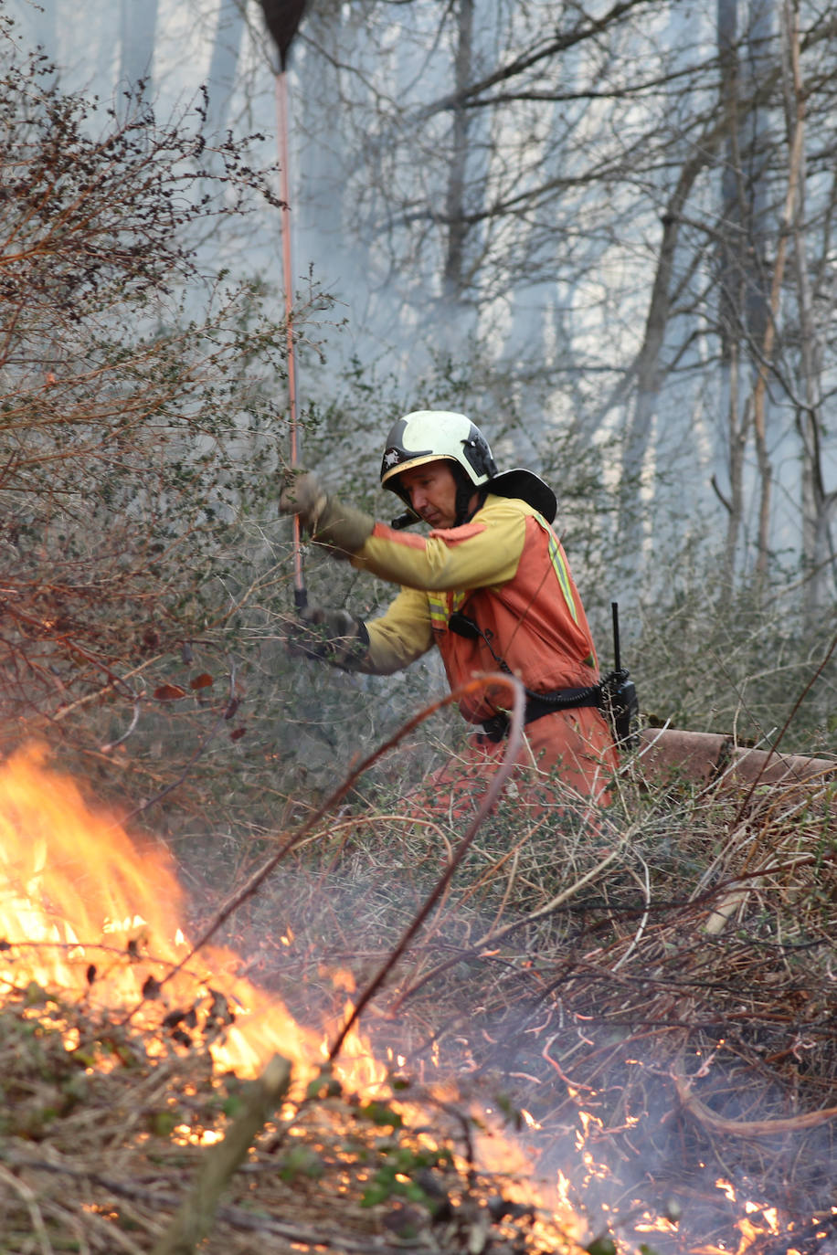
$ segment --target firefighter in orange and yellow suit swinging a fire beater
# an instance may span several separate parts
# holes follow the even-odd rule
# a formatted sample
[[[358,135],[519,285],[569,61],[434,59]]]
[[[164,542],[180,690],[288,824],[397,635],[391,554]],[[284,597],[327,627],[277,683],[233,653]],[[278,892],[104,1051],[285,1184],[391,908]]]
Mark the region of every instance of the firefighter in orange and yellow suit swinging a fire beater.
[[[282,513],[296,513],[315,543],[354,567],[400,585],[378,619],[306,609],[294,648],[349,670],[389,675],[437,645],[452,688],[476,674],[511,671],[526,688],[526,744],[575,794],[607,802],[616,768],[597,708],[599,664],[563,548],[551,528],[556,498],[531,471],[498,473],[484,435],[464,414],[415,410],[389,433],[380,482],[423,521],[427,536],[375,522],[331,496],[312,472],[290,471]],[[459,705],[476,725],[456,771],[438,782],[491,773],[508,728],[507,685]]]

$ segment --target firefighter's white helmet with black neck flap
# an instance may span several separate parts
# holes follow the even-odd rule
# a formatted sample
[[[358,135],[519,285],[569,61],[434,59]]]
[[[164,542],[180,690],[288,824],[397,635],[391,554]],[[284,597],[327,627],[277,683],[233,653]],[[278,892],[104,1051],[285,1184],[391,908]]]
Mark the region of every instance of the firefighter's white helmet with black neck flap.
[[[464,414],[449,409],[415,409],[393,424],[380,464],[381,486],[395,492],[409,507],[409,496],[400,484],[402,471],[439,458],[462,467],[474,488],[489,484],[488,491],[499,497],[526,501],[547,523],[555,518],[558,505],[548,484],[522,468],[499,474],[479,428]]]

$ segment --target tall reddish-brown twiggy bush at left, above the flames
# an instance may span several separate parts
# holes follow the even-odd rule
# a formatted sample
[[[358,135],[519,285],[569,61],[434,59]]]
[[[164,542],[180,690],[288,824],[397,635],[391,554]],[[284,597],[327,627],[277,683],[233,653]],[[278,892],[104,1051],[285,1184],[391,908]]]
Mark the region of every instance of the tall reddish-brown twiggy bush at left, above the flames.
[[[161,122],[68,94],[6,19],[0,44],[0,749],[72,728],[103,763],[136,729],[137,758],[187,693],[188,752],[210,727],[228,749],[233,525],[284,435],[284,329],[217,261],[279,205],[260,137],[213,143],[202,98]]]

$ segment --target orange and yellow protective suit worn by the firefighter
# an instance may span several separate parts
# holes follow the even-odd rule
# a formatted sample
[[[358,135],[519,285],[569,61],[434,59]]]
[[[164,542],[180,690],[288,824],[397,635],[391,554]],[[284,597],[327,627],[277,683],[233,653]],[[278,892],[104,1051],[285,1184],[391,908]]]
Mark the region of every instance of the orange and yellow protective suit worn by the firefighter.
[[[474,620],[497,658],[535,693],[586,688],[599,680],[590,626],[563,548],[523,501],[488,496],[469,523],[427,537],[376,523],[351,561],[402,584],[387,612],[366,624],[370,648],[361,670],[390,674],[435,644],[452,688],[497,671],[484,640],[450,629],[450,615],[459,611]],[[508,688],[498,685],[467,697],[459,709],[481,724],[509,707]],[[572,788],[605,799],[616,753],[600,710],[584,707],[543,715],[527,725],[527,739],[542,769],[557,764]],[[473,753],[478,772],[481,764],[492,771],[491,759],[502,745],[477,735]]]

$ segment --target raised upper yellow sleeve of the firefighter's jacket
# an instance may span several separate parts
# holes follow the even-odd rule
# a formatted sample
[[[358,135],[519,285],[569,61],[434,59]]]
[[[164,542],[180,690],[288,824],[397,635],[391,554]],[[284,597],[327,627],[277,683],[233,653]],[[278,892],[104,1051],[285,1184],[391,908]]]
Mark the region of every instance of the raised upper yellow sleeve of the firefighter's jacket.
[[[375,523],[351,563],[381,580],[427,592],[506,584],[514,577],[523,552],[526,517],[521,502],[489,496],[469,523],[427,537]]]

